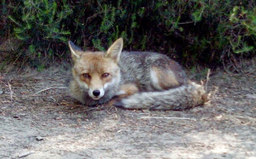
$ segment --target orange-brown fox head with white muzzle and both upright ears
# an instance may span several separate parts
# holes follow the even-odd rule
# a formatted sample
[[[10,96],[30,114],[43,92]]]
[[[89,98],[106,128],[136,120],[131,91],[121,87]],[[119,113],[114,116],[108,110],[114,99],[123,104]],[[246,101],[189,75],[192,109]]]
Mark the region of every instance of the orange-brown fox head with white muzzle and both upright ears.
[[[119,84],[120,69],[118,66],[123,40],[117,39],[106,52],[82,51],[69,41],[71,58],[74,63],[72,75],[80,88],[89,96],[98,100],[107,90]]]

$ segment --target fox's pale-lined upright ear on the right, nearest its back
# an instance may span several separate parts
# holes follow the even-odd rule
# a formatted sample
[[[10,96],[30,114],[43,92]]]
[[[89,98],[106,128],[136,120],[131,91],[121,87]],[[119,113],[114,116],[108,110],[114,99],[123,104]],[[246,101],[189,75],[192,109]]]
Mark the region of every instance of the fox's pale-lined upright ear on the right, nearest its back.
[[[115,62],[119,62],[120,54],[122,52],[123,40],[117,39],[109,48],[104,57],[112,58]]]

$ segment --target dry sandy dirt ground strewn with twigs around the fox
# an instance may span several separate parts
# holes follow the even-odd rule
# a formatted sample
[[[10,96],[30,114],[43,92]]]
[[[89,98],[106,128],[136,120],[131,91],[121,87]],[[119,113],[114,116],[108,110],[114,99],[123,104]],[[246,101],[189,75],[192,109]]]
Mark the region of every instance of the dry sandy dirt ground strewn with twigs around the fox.
[[[256,60],[244,75],[214,71],[211,101],[186,111],[85,107],[67,71],[0,74],[0,158],[255,159]]]

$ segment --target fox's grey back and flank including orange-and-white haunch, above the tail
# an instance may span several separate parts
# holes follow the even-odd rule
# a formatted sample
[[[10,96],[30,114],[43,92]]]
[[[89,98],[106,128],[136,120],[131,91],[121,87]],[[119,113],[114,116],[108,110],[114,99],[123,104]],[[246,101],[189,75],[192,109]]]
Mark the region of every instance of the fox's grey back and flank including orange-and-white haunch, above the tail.
[[[181,66],[153,52],[123,51],[120,55],[121,84],[133,83],[139,91],[162,91],[187,83]]]

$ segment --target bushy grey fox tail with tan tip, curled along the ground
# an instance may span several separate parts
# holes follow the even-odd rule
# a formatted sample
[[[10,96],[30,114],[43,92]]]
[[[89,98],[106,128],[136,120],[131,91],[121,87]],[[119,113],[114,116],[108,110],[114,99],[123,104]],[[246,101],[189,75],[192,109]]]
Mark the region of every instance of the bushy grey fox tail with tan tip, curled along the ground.
[[[191,82],[166,91],[137,93],[114,106],[124,109],[185,110],[202,105],[207,100],[204,87]]]

